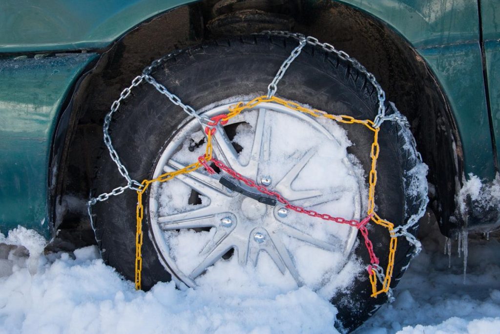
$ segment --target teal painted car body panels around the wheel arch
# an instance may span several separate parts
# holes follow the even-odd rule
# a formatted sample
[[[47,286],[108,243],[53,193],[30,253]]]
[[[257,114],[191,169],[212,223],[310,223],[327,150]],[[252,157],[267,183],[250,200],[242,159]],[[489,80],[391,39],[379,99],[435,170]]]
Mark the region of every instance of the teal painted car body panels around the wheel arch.
[[[76,82],[134,27],[178,0],[0,3],[0,230],[54,235],[50,160]],[[500,140],[500,3],[343,0],[401,36],[432,71],[460,138],[463,175],[494,178]],[[168,34],[169,32],[164,32]],[[453,194],[449,194],[453,196]]]

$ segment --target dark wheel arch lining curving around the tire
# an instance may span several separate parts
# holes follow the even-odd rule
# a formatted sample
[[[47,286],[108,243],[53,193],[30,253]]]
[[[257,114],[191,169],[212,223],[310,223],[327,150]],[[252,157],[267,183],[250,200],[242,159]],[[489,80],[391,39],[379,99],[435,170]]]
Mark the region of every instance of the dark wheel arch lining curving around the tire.
[[[75,207],[61,201],[88,198],[97,151],[102,150],[102,120],[111,103],[153,59],[213,38],[204,24],[207,7],[213,3],[198,2],[161,13],[100,51],[100,59],[71,97],[69,135],[54,181],[57,191],[52,195],[56,226],[64,222],[61,227],[81,230],[88,225],[83,223],[87,221],[81,207],[84,201]],[[300,13],[289,13],[295,21],[293,31],[317,37],[356,58],[375,75],[387,99],[406,115],[429,166],[428,180],[435,190],[430,193],[431,206],[441,232],[449,235],[448,218],[455,208],[453,195],[463,173],[463,155],[446,95],[426,62],[399,32],[354,7],[317,2],[302,7]],[[55,209],[61,205],[65,210]]]

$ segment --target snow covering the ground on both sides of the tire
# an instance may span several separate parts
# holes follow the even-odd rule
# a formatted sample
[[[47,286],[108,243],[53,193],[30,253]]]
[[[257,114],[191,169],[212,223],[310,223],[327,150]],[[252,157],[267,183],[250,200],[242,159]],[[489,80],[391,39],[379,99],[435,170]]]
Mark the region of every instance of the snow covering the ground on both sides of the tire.
[[[422,253],[395,292],[359,333],[500,333],[500,243],[471,236],[463,284],[454,242],[451,267],[444,238],[423,226]],[[3,243],[36,250],[22,228]],[[0,333],[334,333],[336,309],[308,288],[286,293],[158,283],[135,291],[98,259],[95,247],[48,253],[30,273],[27,251],[8,248],[12,272],[0,269]]]

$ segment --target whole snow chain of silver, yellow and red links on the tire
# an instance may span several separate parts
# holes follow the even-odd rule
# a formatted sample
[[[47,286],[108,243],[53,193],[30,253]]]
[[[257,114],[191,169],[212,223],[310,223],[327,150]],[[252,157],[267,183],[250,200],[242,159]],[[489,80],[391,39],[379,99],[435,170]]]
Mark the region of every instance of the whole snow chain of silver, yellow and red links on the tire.
[[[154,78],[150,75],[151,71],[153,68],[161,64],[165,59],[171,57],[173,54],[176,54],[178,52],[174,52],[173,54],[169,54],[163,58],[160,58],[158,60],[155,60],[150,66],[148,66],[144,71],[142,72],[142,75],[137,76],[136,78],[133,79],[131,85],[128,88],[125,88],[121,94],[118,100],[113,102],[111,105],[111,110],[110,112],[106,115],[104,118],[104,125],[103,125],[103,134],[104,134],[104,144],[109,150],[109,154],[111,156],[111,159],[115,162],[115,164],[118,167],[119,173],[126,179],[127,184],[121,187],[117,187],[113,189],[109,193],[103,193],[100,194],[99,196],[95,198],[91,198],[88,201],[88,214],[90,217],[90,224],[92,229],[95,232],[95,228],[93,225],[93,219],[92,219],[92,213],[91,213],[91,206],[95,204],[98,201],[105,201],[107,200],[110,196],[115,196],[123,193],[126,189],[132,189],[137,192],[137,206],[136,206],[136,234],[135,234],[135,288],[138,290],[141,288],[141,270],[142,270],[142,254],[141,254],[141,248],[142,248],[142,240],[143,240],[143,234],[142,234],[142,219],[144,215],[144,207],[142,205],[142,195],[144,192],[147,190],[148,186],[153,183],[153,182],[166,182],[168,180],[173,179],[174,177],[181,175],[181,174],[187,174],[190,173],[198,168],[203,167],[209,174],[215,173],[215,171],[212,169],[210,164],[214,164],[217,166],[221,171],[224,171],[225,173],[229,174],[231,177],[242,181],[249,187],[253,187],[257,189],[259,192],[266,194],[268,196],[271,196],[275,198],[278,202],[284,204],[284,206],[287,209],[293,210],[298,213],[303,213],[311,217],[317,217],[326,221],[332,221],[335,223],[339,224],[347,224],[349,226],[357,228],[363,239],[364,239],[364,244],[365,247],[368,251],[369,258],[370,258],[370,264],[367,266],[367,271],[368,271],[368,278],[371,283],[371,296],[376,297],[380,293],[387,293],[390,294],[390,281],[392,278],[392,271],[394,268],[394,256],[395,256],[395,251],[396,251],[396,246],[397,246],[397,237],[399,236],[404,236],[410,244],[412,244],[415,247],[415,253],[417,254],[420,251],[420,242],[407,230],[416,224],[417,219],[414,217],[410,217],[408,222],[411,222],[411,224],[406,224],[404,226],[398,226],[397,228],[394,228],[394,225],[382,218],[380,218],[377,213],[375,212],[375,185],[377,182],[377,172],[376,172],[376,163],[377,163],[377,158],[378,154],[380,152],[380,148],[378,146],[378,133],[380,131],[380,125],[384,121],[392,121],[392,122],[398,122],[401,126],[408,126],[407,121],[405,120],[404,117],[402,117],[399,113],[394,113],[389,116],[385,115],[385,93],[381,89],[380,85],[376,82],[374,76],[369,73],[362,65],[360,65],[356,60],[350,58],[346,53],[343,51],[337,51],[333,46],[326,44],[326,43],[319,43],[317,39],[312,38],[312,37],[305,37],[300,34],[294,34],[294,33],[288,33],[288,32],[266,32],[266,34],[269,35],[278,35],[278,36],[283,36],[283,37],[291,37],[295,38],[299,41],[299,45],[293,49],[291,52],[290,56],[283,62],[281,65],[279,71],[277,72],[276,76],[274,77],[273,81],[269,84],[268,86],[268,92],[267,95],[257,97],[249,102],[238,102],[228,108],[228,113],[227,114],[222,114],[222,115],[217,115],[214,116],[210,119],[208,119],[205,116],[199,116],[196,114],[196,112],[190,107],[181,102],[181,100],[171,94],[163,85],[159,84],[154,80]],[[373,121],[371,120],[358,120],[355,119],[351,116],[347,115],[331,115],[328,113],[325,113],[324,111],[320,111],[317,109],[310,109],[310,108],[305,108],[295,102],[287,101],[284,99],[280,99],[274,96],[274,94],[277,91],[277,83],[279,80],[283,77],[284,73],[288,69],[289,65],[293,62],[293,60],[300,54],[302,48],[306,45],[313,45],[313,46],[318,46],[322,48],[323,50],[327,52],[331,52],[336,54],[340,59],[344,61],[350,62],[357,70],[362,72],[364,75],[366,75],[367,79],[373,84],[377,91],[377,97],[379,101],[379,106],[378,106],[378,113]],[[160,176],[158,176],[155,179],[152,180],[143,180],[142,182],[137,182],[133,179],[130,178],[127,169],[125,166],[121,163],[118,154],[114,150],[112,143],[111,143],[111,138],[108,133],[109,129],[109,124],[111,122],[111,117],[112,114],[119,108],[119,105],[122,100],[126,99],[128,95],[130,94],[130,91],[133,87],[138,86],[143,80],[145,80],[147,83],[153,85],[155,89],[160,92],[161,94],[165,95],[173,104],[180,106],[184,112],[186,112],[189,116],[192,116],[198,120],[202,128],[204,128],[204,132],[206,134],[206,147],[205,147],[205,153],[204,155],[198,157],[198,161],[193,162],[192,164],[173,171],[173,172],[168,172],[164,173]],[[266,187],[256,184],[253,180],[246,178],[245,176],[237,173],[236,171],[230,169],[226,165],[224,165],[221,161],[215,159],[212,156],[212,136],[216,131],[216,126],[217,125],[224,125],[228,122],[229,119],[235,117],[236,115],[240,114],[244,110],[251,110],[255,106],[257,106],[260,103],[264,102],[272,102],[276,104],[280,104],[286,108],[289,108],[291,110],[295,110],[300,113],[307,114],[312,117],[323,117],[330,119],[332,121],[338,122],[338,123],[343,123],[343,124],[360,124],[365,126],[369,131],[373,132],[373,142],[371,144],[371,150],[370,150],[370,158],[371,158],[371,168],[368,176],[368,182],[369,182],[369,189],[368,189],[368,208],[367,208],[367,215],[364,219],[358,221],[358,220],[347,220],[341,217],[334,217],[329,214],[323,214],[323,213],[318,213],[316,211],[308,210],[303,207],[299,207],[296,205],[291,204],[288,200],[283,198],[279,193],[268,190]],[[414,143],[413,143],[414,144]],[[418,156],[418,158],[421,161],[421,157]],[[387,267],[385,268],[385,272],[383,268],[379,266],[379,259],[375,255],[373,251],[373,245],[370,239],[368,238],[368,229],[366,228],[366,225],[368,224],[369,221],[374,222],[377,225],[383,226],[388,230],[389,236],[390,236],[390,243],[389,243],[389,249],[388,249],[388,263]],[[378,288],[377,287],[377,282],[381,283],[381,286]]]

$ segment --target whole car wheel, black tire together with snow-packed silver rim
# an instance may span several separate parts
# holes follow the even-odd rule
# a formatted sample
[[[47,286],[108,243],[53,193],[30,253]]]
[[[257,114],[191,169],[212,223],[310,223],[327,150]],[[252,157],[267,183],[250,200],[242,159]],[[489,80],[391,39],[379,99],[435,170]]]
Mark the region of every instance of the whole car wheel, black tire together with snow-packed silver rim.
[[[370,280],[387,291],[407,267],[413,252],[407,239],[412,240],[426,204],[426,169],[404,117],[389,104],[384,107],[399,121],[384,122],[380,131],[368,121],[346,124],[375,119],[379,97],[372,77],[345,54],[331,53],[314,40],[307,43],[277,85],[276,94],[289,103],[260,102],[216,125],[210,136],[214,160],[207,163],[216,173],[198,168],[148,185],[142,199],[143,288],[170,279],[179,287],[277,292],[305,285],[337,306],[336,327],[347,331],[387,300],[385,293],[374,293]],[[151,77],[124,94],[110,127],[130,177],[152,180],[197,162],[208,136],[196,118],[224,115],[236,102],[265,95],[296,47],[293,38],[255,35],[218,40],[155,62]],[[162,87],[197,110],[196,118],[187,117],[177,100],[170,103]],[[293,106],[346,119],[312,117]],[[226,178],[227,170],[217,166],[239,173],[243,182]],[[96,170],[97,193],[122,183],[106,155]],[[374,182],[370,204],[368,184]],[[266,199],[255,190],[262,186],[289,205]],[[136,205],[137,194],[128,191],[94,207],[102,257],[131,280]],[[356,223],[292,210],[297,207]],[[369,220],[363,218],[371,216],[370,207],[393,224],[393,233],[374,223],[358,231]],[[369,266],[374,254],[380,268],[376,278]],[[380,287],[382,282],[386,286]]]

